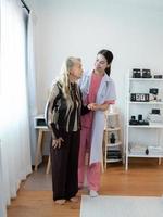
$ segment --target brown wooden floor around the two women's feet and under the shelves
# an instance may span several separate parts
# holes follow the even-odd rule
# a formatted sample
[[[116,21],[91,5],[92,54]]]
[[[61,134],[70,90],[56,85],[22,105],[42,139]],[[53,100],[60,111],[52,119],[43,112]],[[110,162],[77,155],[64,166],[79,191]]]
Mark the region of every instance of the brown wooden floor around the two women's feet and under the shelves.
[[[22,183],[17,197],[12,200],[11,206],[8,208],[8,217],[79,217],[80,202],[67,202],[65,205],[54,204],[51,189],[46,187],[47,190],[45,190],[45,187],[40,184],[42,179],[50,181],[51,176],[47,178],[45,173],[39,174],[36,190],[33,189],[36,179],[32,179],[30,187],[27,188],[24,188],[24,183]],[[87,193],[85,189],[78,192],[78,196]],[[133,159],[128,171],[125,171],[120,164],[109,165],[102,174],[100,194],[162,196],[163,165],[159,166],[155,159],[139,162]]]

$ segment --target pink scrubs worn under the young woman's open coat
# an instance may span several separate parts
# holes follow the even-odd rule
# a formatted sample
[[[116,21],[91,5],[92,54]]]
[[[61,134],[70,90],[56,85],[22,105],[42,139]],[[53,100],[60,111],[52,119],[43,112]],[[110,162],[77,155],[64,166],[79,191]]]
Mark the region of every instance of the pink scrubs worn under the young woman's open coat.
[[[89,94],[87,95],[86,103],[95,103],[97,93],[102,80],[102,76],[92,73]],[[85,158],[88,153],[88,162],[90,157],[90,138],[93,112],[82,117],[82,132],[80,132],[80,148],[79,148],[79,162],[78,162],[78,186],[84,184],[85,179]],[[100,174],[101,163],[95,163],[87,166],[87,184],[89,190],[98,191],[100,188]]]

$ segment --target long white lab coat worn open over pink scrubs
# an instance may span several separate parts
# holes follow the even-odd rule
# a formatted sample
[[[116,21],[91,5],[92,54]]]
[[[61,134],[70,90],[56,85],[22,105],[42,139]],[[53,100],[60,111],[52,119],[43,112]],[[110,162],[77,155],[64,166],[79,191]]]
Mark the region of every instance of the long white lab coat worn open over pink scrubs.
[[[83,92],[83,99],[85,101],[87,94],[89,93],[89,86],[91,81],[92,72],[86,72],[79,81],[79,86]],[[106,74],[103,76],[98,93],[96,103],[103,104],[105,101],[115,100],[115,86],[112,78]],[[92,131],[91,131],[91,149],[90,149],[90,161],[89,164],[102,161],[102,141],[103,141],[103,130],[104,130],[104,112],[96,111],[92,120]]]

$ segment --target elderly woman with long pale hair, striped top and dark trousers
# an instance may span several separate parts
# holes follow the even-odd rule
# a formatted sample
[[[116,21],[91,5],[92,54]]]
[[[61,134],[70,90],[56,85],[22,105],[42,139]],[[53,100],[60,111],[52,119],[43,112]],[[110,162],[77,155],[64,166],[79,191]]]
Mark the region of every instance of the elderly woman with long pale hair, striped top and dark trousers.
[[[53,200],[58,204],[64,204],[66,200],[77,201],[80,115],[89,112],[88,106],[83,105],[82,92],[76,84],[82,75],[80,59],[67,58],[46,106],[46,119],[52,131]]]

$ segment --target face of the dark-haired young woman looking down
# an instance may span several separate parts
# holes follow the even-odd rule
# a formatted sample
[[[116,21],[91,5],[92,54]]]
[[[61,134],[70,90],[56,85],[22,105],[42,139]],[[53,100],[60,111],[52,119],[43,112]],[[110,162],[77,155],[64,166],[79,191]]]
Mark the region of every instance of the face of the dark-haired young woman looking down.
[[[110,65],[106,62],[106,59],[102,54],[97,55],[97,60],[95,62],[95,69],[99,73],[104,73],[105,68]]]

